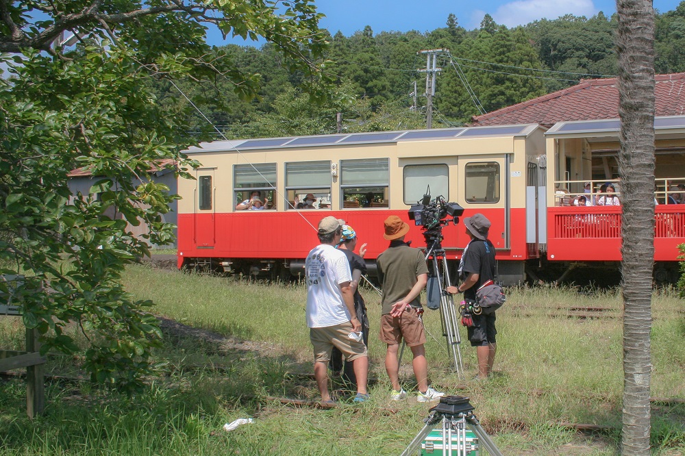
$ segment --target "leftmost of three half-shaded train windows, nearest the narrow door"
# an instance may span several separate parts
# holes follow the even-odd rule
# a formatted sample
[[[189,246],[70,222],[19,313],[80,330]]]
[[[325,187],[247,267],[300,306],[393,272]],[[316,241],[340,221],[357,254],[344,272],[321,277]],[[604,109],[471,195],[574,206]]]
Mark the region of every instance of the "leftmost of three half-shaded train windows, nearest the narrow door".
[[[264,203],[265,209],[275,209],[276,164],[236,164],[233,174],[236,204],[249,200],[252,194]]]

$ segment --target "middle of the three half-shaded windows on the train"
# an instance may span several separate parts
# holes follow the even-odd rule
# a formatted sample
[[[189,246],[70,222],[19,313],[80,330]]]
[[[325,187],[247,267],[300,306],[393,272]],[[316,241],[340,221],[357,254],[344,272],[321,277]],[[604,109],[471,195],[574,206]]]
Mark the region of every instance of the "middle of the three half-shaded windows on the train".
[[[330,209],[331,185],[329,161],[286,163],[286,209]]]

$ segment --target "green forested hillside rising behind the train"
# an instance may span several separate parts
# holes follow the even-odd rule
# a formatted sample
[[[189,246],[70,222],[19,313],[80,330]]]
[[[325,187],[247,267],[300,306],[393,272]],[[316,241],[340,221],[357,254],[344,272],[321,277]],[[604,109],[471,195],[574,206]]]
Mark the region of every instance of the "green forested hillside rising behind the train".
[[[656,17],[656,72],[685,71],[685,1]],[[329,37],[328,85],[312,86],[288,73],[272,45],[214,49],[218,68],[242,73],[260,86],[258,99],[240,99],[229,78],[182,81],[179,86],[227,138],[331,134],[425,127],[427,99],[423,49],[438,55],[433,127],[469,122],[471,116],[560,90],[580,79],[616,75],[616,17],[572,15],[508,29],[488,14],[466,30],[450,14],[432,31],[373,31]],[[231,78],[235,80],[235,78]],[[414,94],[414,83],[416,94]],[[188,103],[158,82],[160,100],[180,112]],[[338,116],[340,113],[340,116]],[[220,138],[197,115],[197,134]]]

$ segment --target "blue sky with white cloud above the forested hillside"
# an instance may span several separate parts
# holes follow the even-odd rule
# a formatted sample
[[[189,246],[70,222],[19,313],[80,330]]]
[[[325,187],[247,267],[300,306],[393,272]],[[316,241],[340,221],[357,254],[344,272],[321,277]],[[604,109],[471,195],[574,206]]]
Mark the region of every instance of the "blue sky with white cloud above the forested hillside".
[[[445,27],[447,16],[457,16],[459,25],[466,29],[479,27],[488,13],[499,24],[508,27],[527,24],[536,19],[556,19],[564,14],[594,16],[602,11],[607,16],[616,12],[611,0],[314,0],[317,10],[326,15],[320,26],[331,34],[340,30],[345,36],[371,25],[374,34],[380,31],[429,31]],[[680,0],[654,0],[660,12],[675,10]],[[212,45],[226,44],[218,32],[210,34]],[[232,41],[236,42],[236,41]],[[242,44],[242,40],[236,42]],[[248,43],[249,44],[249,43]]]

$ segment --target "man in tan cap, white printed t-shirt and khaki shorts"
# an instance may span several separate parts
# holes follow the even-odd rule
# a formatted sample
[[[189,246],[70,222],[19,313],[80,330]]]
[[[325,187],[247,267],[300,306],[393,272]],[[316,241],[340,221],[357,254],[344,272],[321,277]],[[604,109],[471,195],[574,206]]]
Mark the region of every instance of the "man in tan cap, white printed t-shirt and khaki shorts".
[[[357,380],[354,402],[369,398],[366,379],[369,359],[360,331],[362,323],[354,308],[352,275],[345,253],[336,249],[343,237],[344,220],[333,216],[319,222],[319,244],[307,255],[307,326],[314,347],[314,377],[323,403],[333,403],[328,391],[328,362],[335,346],[352,362]]]

